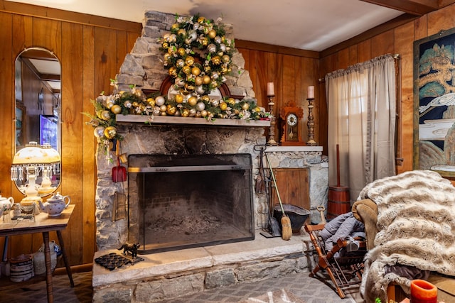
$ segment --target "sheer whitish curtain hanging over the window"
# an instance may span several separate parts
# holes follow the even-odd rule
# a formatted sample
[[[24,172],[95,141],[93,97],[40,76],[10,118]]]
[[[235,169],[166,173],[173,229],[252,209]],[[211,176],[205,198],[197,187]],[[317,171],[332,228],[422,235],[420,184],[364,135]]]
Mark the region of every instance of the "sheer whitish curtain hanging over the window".
[[[383,55],[326,75],[329,183],[340,183],[355,201],[373,180],[395,175],[395,62]]]

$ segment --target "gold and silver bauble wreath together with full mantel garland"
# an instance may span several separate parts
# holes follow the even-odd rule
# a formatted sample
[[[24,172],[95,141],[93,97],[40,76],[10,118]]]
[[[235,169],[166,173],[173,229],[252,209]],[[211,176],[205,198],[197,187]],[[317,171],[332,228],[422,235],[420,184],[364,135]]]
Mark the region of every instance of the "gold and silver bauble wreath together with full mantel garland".
[[[150,116],[202,117],[205,119],[269,119],[269,113],[260,109],[253,99],[210,98],[210,92],[221,87],[225,75],[232,72],[234,43],[225,38],[225,30],[217,22],[198,15],[183,18],[176,16],[176,23],[170,33],[158,39],[164,53],[163,65],[171,77],[173,94],[171,98],[159,92],[145,96],[141,89],[131,85],[128,91],[117,89],[114,94],[104,92],[92,100],[95,115],[87,124],[92,125],[98,143],[107,157],[109,146],[114,140],[123,140],[117,132],[117,114],[137,114]],[[167,92],[163,92],[167,93]]]

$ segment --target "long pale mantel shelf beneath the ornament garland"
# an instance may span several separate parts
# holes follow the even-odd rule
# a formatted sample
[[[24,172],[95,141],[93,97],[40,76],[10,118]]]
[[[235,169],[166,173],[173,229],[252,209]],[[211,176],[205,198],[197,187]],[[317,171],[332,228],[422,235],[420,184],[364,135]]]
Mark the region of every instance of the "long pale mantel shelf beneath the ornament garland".
[[[149,123],[154,124],[189,124],[203,126],[242,126],[242,127],[269,127],[270,120],[242,120],[242,119],[213,119],[176,117],[176,116],[141,116],[117,115],[117,123]]]

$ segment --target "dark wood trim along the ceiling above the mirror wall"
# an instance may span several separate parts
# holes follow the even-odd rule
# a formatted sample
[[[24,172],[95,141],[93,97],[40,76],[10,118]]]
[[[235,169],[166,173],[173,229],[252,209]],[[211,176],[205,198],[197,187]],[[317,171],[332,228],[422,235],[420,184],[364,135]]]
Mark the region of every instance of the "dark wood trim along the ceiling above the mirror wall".
[[[4,11],[6,13],[16,13],[24,16],[42,17],[57,21],[79,23],[89,26],[98,26],[102,28],[131,31],[134,33],[140,33],[142,31],[142,24],[137,22],[89,15],[87,13],[75,13],[73,11],[64,11],[45,6],[36,6],[5,0],[0,0],[0,11]]]

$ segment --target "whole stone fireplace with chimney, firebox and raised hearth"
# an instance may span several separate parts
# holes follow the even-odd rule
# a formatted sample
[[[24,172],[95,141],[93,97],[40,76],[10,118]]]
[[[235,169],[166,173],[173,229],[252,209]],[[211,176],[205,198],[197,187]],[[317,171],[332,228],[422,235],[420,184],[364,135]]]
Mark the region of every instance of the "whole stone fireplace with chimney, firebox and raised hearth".
[[[159,60],[156,39],[174,20],[173,14],[145,13],[142,36],[116,77],[119,89],[128,84],[160,89],[167,72]],[[233,38],[232,27],[227,25],[225,30]],[[230,93],[254,99],[242,55],[235,52],[232,61],[235,68],[226,82]],[[145,262],[112,272],[94,265],[93,301],[112,302],[122,297],[125,302],[154,302],[305,270],[308,245],[304,238],[296,235],[291,241],[282,241],[259,234],[267,228],[269,218],[267,197],[255,190],[259,176],[255,145],[266,143],[264,123],[159,118],[145,125],[140,116],[118,117],[118,131],[124,136],[119,153],[128,155],[123,164],[129,170],[127,182],[112,182],[116,161],[109,162],[109,157],[97,153],[95,258],[119,253],[117,248],[123,243],[137,241]],[[185,119],[183,123],[176,122],[181,119]],[[322,148],[278,146],[267,147],[266,152],[272,167],[309,170],[308,205],[311,221],[318,222],[316,207],[326,206],[328,194],[328,167]],[[115,158],[114,151],[110,157]],[[127,218],[113,219],[116,192],[128,197]],[[144,204],[157,207],[144,208]],[[195,226],[199,229],[193,229]],[[146,228],[155,236],[145,236]],[[167,232],[173,228],[177,233],[169,236]],[[225,233],[230,233],[229,237]],[[237,241],[243,241],[242,245],[236,245]]]

